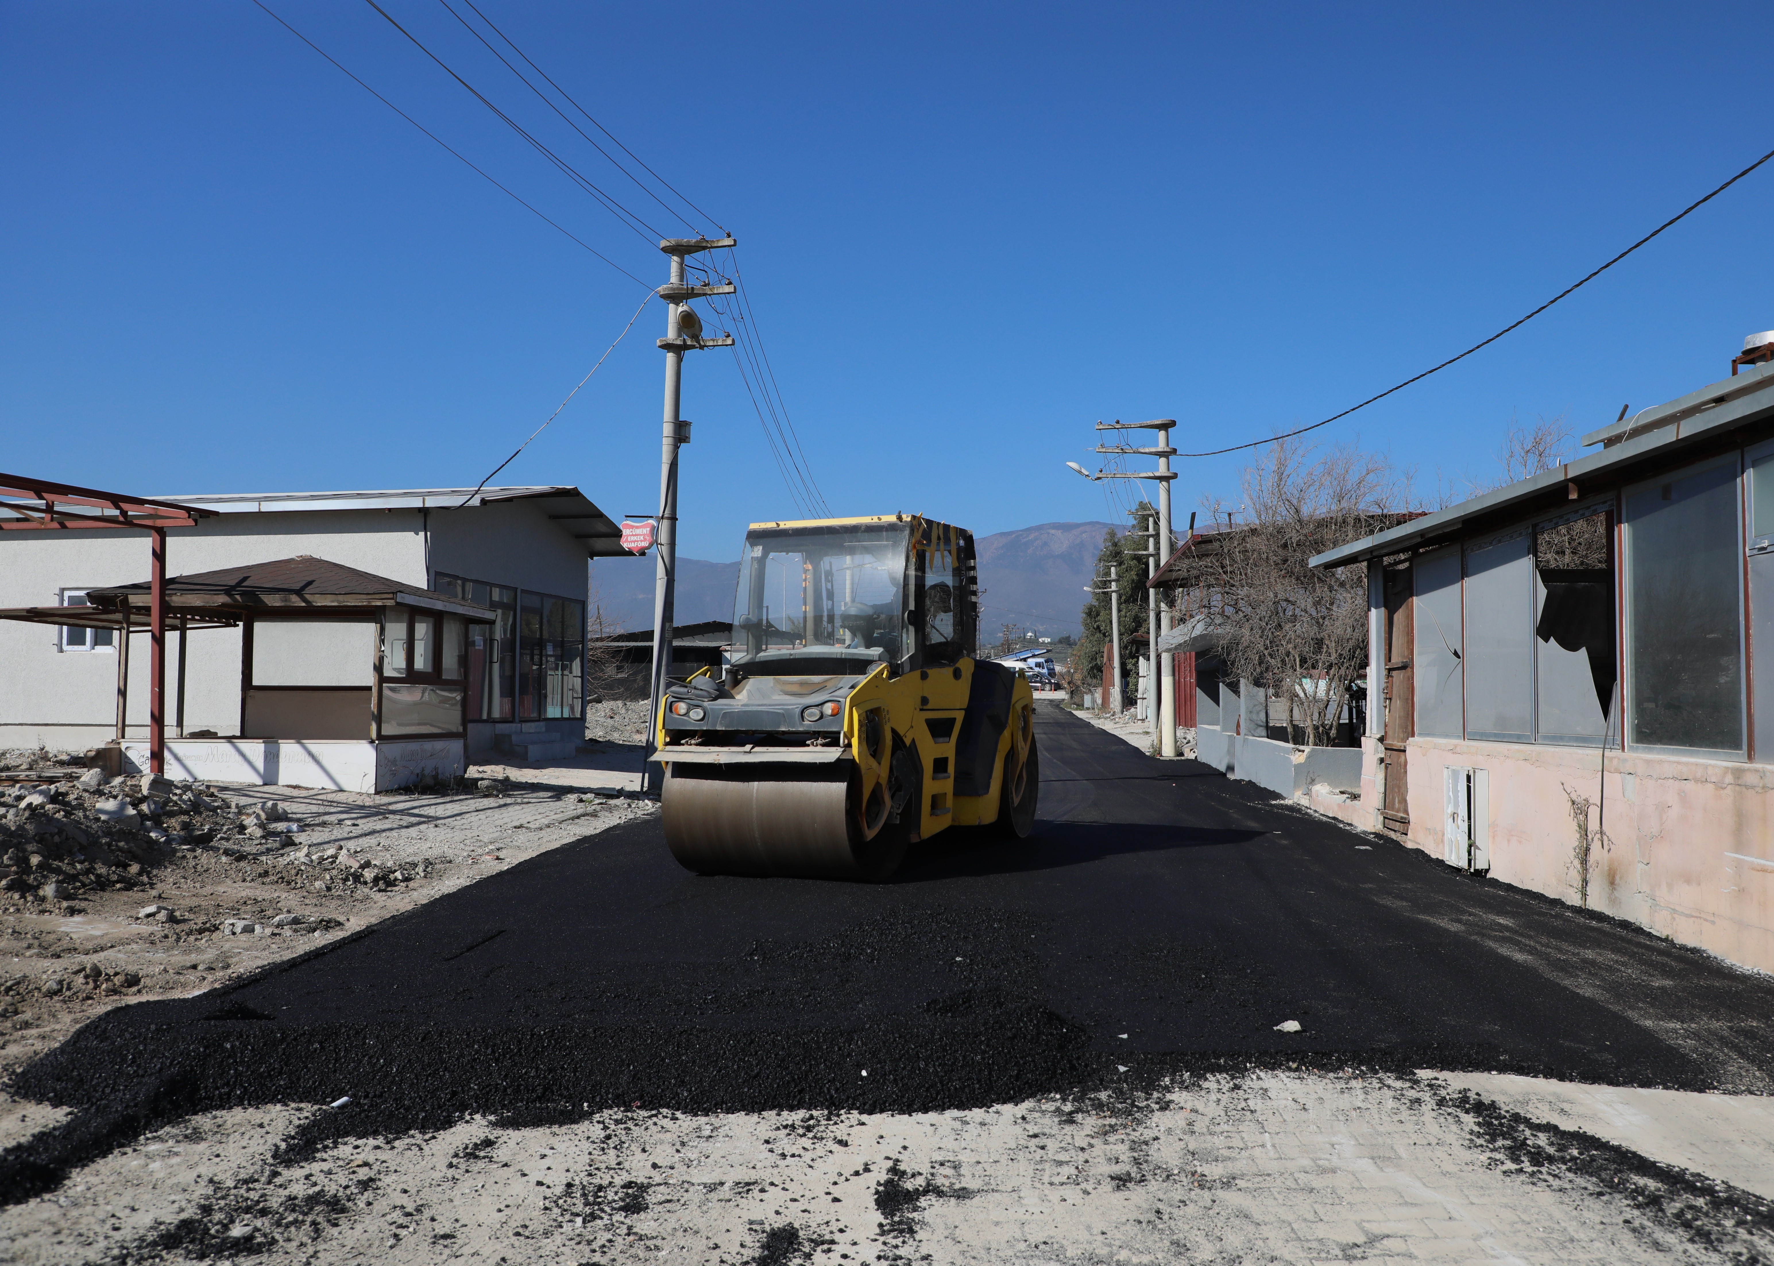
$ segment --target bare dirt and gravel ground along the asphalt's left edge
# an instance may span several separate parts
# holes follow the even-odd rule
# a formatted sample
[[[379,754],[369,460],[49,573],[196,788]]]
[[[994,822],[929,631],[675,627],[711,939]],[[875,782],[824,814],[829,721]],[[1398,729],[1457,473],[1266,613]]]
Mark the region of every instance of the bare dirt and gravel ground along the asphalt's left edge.
[[[89,887],[71,901],[44,899],[41,890],[0,897],[0,1083],[7,1090],[20,1067],[114,1007],[222,988],[527,856],[655,812],[644,801],[593,800],[546,785],[456,796],[224,787],[209,796],[227,803],[227,839],[241,840],[238,848],[163,846],[140,876],[126,872],[126,881]],[[248,832],[263,824],[271,803],[282,810],[277,821],[302,832],[261,846]],[[0,1094],[0,1149],[60,1115]]]

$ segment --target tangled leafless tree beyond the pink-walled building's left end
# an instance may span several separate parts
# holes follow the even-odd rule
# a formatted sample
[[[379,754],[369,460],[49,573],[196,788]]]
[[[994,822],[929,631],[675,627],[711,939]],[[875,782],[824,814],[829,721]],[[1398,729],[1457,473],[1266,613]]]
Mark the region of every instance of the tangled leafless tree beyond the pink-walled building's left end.
[[[1277,440],[1260,454],[1244,472],[1242,520],[1194,551],[1183,583],[1228,668],[1286,700],[1290,736],[1329,745],[1368,663],[1368,578],[1306,562],[1394,521],[1405,488],[1384,457],[1352,447]],[[1203,509],[1224,514],[1219,502]]]

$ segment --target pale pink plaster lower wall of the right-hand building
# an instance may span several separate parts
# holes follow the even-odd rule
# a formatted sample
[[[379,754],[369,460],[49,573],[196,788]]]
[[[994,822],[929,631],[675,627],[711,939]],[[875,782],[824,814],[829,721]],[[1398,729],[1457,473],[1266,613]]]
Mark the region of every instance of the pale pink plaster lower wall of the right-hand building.
[[[1609,752],[1604,777],[1595,748],[1432,738],[1405,761],[1416,848],[1442,856],[1442,770],[1488,770],[1492,878],[1579,904],[1588,798],[1591,910],[1774,972],[1774,768]]]

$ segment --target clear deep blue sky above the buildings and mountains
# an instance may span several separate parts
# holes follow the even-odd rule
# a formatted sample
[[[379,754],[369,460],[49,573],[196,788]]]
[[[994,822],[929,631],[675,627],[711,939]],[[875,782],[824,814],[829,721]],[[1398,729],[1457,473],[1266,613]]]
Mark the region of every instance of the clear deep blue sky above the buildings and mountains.
[[[371,7],[270,2],[663,280],[663,255]],[[623,186],[435,0],[383,4]],[[1185,449],[1318,420],[1774,147],[1767,41],[1740,5],[481,4],[738,234],[834,509],[981,534],[1105,518],[1063,466],[1095,461],[1096,418],[1176,417]],[[248,0],[4,0],[0,108],[14,472],[137,493],[474,484],[642,296]],[[1586,431],[1723,378],[1774,328],[1770,204],[1774,163],[1322,434],[1428,486],[1488,475],[1511,413]],[[662,333],[653,305],[498,482],[649,509]],[[797,511],[729,355],[688,360],[681,548],[729,559],[747,521]],[[1238,465],[1181,463],[1180,509]]]

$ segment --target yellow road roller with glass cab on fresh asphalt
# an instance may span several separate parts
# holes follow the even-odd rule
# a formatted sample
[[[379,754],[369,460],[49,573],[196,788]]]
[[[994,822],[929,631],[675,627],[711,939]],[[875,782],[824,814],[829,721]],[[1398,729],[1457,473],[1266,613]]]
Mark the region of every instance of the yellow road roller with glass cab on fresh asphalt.
[[[949,826],[1034,830],[1034,695],[981,663],[970,532],[917,514],[752,523],[720,676],[655,716],[672,856],[882,881]]]

